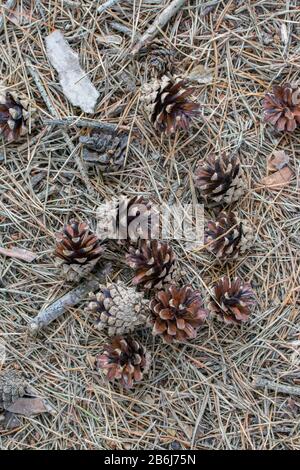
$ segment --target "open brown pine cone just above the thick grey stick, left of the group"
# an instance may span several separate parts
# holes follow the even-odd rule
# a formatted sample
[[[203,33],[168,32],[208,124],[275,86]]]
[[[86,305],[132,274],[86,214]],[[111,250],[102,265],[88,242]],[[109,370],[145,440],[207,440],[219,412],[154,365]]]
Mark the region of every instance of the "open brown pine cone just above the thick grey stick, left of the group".
[[[89,274],[102,252],[100,240],[84,222],[72,219],[57,234],[54,255],[59,258],[62,274],[67,281],[77,282]]]

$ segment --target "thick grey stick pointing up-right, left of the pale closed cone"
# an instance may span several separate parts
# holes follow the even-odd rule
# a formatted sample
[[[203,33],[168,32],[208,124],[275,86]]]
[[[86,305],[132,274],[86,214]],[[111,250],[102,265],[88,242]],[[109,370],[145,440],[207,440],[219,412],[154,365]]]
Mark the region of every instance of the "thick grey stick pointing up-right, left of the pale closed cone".
[[[75,289],[67,292],[63,297],[47,308],[41,310],[39,314],[30,321],[28,325],[28,332],[31,335],[37,334],[42,328],[52,323],[58,317],[60,317],[69,307],[77,305],[89,292],[96,289],[111,270],[111,264],[107,263],[106,266],[99,272],[98,277],[88,279],[87,281],[80,284]]]

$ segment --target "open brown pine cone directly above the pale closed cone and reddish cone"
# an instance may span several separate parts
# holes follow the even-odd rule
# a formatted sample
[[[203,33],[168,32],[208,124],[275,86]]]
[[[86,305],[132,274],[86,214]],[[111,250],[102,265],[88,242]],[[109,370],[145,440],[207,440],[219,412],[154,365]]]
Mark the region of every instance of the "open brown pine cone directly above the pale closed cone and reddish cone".
[[[167,242],[141,240],[138,248],[130,248],[127,264],[135,269],[132,282],[144,289],[162,289],[177,276],[176,256]]]

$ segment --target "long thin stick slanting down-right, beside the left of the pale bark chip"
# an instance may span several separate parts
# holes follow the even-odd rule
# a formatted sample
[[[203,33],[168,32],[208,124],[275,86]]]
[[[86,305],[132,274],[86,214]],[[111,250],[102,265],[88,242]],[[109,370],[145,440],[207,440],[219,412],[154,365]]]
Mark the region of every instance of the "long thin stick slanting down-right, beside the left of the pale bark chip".
[[[47,92],[44,88],[44,85],[42,84],[42,82],[40,80],[40,77],[39,77],[37,71],[35,70],[35,68],[33,67],[32,63],[29,60],[26,61],[26,65],[28,67],[30,75],[32,76],[33,80],[36,83],[36,86],[37,86],[37,88],[38,88],[38,90],[41,94],[41,97],[43,98],[50,114],[52,114],[52,116],[55,117],[55,118],[59,118],[58,113],[57,113],[56,109],[53,107],[53,105],[52,105],[52,103],[51,103],[51,101],[50,101],[50,99],[47,95]],[[87,190],[89,191],[90,194],[96,195],[96,193],[94,191],[94,188],[91,185],[91,183],[89,181],[89,178],[86,174],[86,171],[84,169],[84,166],[83,166],[83,163],[80,159],[80,156],[78,155],[77,152],[75,152],[75,146],[74,146],[73,142],[71,141],[71,139],[70,139],[70,137],[69,137],[69,135],[67,134],[66,131],[62,130],[62,134],[63,134],[63,136],[66,140],[66,143],[69,147],[70,152],[74,153],[74,158],[75,158],[78,170],[79,170],[79,172],[81,174],[81,177],[82,177],[82,179],[83,179],[83,181],[84,181],[84,183],[87,187]]]

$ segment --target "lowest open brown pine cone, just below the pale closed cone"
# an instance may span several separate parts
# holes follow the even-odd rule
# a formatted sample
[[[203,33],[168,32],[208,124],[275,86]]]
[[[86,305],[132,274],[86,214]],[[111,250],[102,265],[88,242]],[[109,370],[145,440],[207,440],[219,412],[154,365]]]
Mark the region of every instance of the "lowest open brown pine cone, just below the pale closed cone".
[[[131,337],[117,336],[96,358],[96,368],[106,371],[109,381],[119,380],[125,388],[140,382],[148,372],[150,355],[142,344]]]

